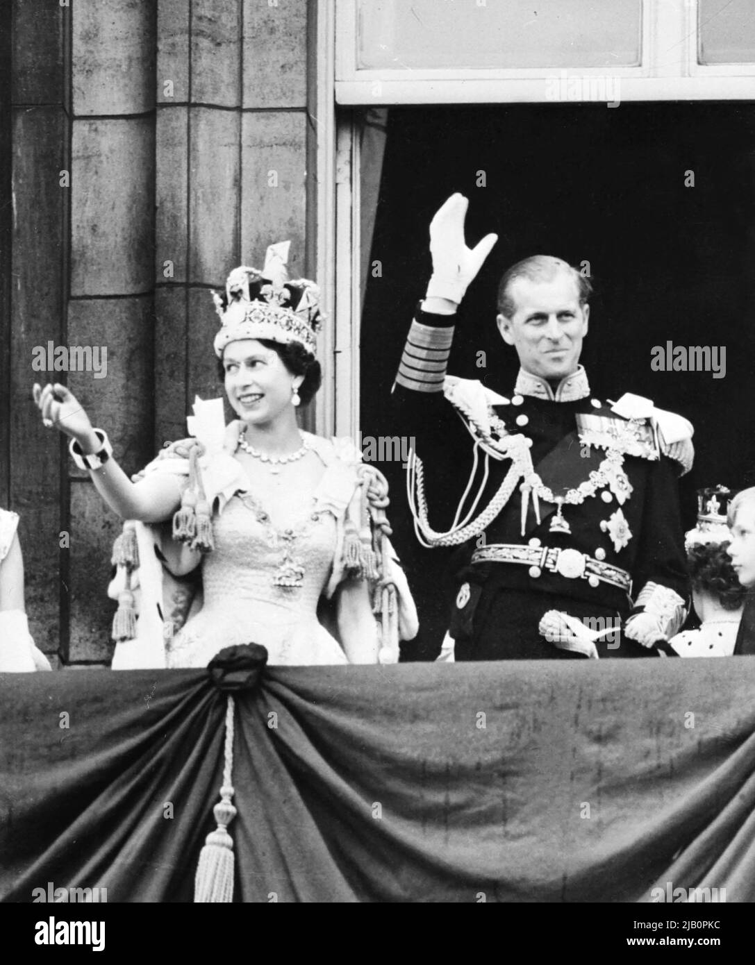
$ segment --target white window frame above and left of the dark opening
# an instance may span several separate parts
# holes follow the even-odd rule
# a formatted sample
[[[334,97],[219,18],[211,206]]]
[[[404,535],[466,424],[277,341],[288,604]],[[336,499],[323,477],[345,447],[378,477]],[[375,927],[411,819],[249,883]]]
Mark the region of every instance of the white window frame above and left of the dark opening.
[[[316,429],[357,438],[360,410],[361,257],[359,130],[355,107],[543,103],[563,69],[401,71],[356,69],[354,0],[321,0],[318,20],[318,279],[329,313],[321,336]],[[643,0],[641,66],[617,69],[621,99],[752,100],[755,65],[698,63],[699,0]],[[350,31],[348,33],[347,31]],[[680,57],[680,51],[682,56]],[[606,76],[604,69],[567,76]],[[377,86],[376,86],[377,85]],[[408,319],[407,319],[408,324]]]

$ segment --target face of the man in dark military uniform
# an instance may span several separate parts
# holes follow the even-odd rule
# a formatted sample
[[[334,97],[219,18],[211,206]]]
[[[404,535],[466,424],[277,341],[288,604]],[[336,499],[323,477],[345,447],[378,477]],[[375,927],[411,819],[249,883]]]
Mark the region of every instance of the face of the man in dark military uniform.
[[[517,278],[509,291],[517,308],[511,318],[497,317],[498,331],[517,349],[521,368],[549,379],[576,372],[590,306],[579,304],[573,277],[558,271],[550,281]]]

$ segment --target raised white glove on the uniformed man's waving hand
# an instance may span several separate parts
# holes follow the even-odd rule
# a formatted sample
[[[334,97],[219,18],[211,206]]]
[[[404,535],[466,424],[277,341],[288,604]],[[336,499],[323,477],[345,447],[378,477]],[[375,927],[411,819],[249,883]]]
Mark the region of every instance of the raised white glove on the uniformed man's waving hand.
[[[464,217],[467,207],[469,201],[463,195],[452,194],[430,223],[433,277],[428,285],[428,298],[445,298],[459,305],[498,240],[497,234],[486,234],[475,248],[466,247]]]

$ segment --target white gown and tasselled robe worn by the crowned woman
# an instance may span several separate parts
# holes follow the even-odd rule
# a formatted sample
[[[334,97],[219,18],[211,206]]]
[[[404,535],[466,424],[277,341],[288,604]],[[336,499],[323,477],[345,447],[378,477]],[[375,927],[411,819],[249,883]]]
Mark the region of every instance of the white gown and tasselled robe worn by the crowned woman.
[[[360,653],[374,650],[378,662],[396,663],[399,641],[416,635],[418,620],[381,509],[371,521],[366,487],[373,485],[387,505],[385,481],[359,465],[361,454],[350,439],[303,432],[325,466],[320,482],[307,495],[273,488],[256,498],[233,455],[241,426],[231,423],[222,451],[197,460],[214,510],[201,594],[192,600],[160,565],[165,528],[129,522],[139,564],[130,572],[118,565],[108,593],[120,606],[130,582],[138,620],[133,638],[119,638],[113,669],[204,668],[219,650],[244,644],[265,647],[271,665],[349,663],[327,627]],[[183,487],[189,470],[189,459],[174,449],[154,459],[145,474],[174,474]]]

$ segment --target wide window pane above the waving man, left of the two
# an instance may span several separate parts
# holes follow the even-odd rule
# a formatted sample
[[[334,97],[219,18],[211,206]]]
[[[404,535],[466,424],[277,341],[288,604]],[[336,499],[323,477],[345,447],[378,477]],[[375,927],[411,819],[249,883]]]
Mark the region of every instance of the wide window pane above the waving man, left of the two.
[[[357,0],[362,69],[640,63],[641,0]]]

